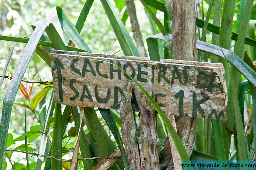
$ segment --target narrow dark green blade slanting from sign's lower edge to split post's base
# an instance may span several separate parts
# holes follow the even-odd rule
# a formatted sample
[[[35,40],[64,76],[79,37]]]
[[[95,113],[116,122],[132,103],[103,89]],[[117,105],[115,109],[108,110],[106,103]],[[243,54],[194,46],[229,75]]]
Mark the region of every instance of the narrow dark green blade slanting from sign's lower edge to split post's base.
[[[106,121],[108,128],[110,128],[114,138],[116,139],[117,145],[122,154],[122,160],[123,160],[125,170],[128,170],[129,166],[128,166],[128,162],[127,162],[126,152],[124,150],[123,141],[119,134],[119,130],[117,128],[116,122],[114,121],[114,118],[109,109],[99,109],[99,111],[100,111],[102,117],[104,118],[104,120]]]

